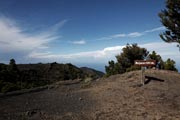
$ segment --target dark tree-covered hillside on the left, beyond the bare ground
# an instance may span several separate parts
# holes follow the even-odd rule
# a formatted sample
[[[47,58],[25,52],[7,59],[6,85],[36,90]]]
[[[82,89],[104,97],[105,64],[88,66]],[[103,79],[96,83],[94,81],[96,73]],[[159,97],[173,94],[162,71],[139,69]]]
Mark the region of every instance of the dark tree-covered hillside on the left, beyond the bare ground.
[[[0,64],[0,92],[29,89],[66,80],[97,79],[104,75],[91,68],[81,69],[72,65],[47,64]]]

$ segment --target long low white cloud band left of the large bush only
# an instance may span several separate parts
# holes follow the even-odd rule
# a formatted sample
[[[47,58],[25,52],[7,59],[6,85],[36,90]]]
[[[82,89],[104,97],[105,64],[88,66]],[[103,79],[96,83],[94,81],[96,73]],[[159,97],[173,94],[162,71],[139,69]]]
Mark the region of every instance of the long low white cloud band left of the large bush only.
[[[28,57],[35,58],[35,59],[54,59],[54,60],[75,60],[75,59],[91,59],[93,60],[102,60],[111,58],[113,55],[120,53],[124,46],[113,46],[113,47],[106,47],[102,50],[96,51],[87,51],[87,52],[79,52],[79,53],[72,53],[72,54],[53,54],[51,52],[39,53],[33,52]]]

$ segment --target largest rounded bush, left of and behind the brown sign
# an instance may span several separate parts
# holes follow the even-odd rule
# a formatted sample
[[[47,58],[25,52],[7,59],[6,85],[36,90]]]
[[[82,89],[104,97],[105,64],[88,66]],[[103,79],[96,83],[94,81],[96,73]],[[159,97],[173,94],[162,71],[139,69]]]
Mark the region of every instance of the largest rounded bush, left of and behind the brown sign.
[[[116,56],[117,62],[109,61],[109,65],[105,66],[106,76],[140,69],[134,66],[134,60],[143,60],[148,53],[145,48],[140,48],[137,44],[127,44],[122,49],[122,53]]]

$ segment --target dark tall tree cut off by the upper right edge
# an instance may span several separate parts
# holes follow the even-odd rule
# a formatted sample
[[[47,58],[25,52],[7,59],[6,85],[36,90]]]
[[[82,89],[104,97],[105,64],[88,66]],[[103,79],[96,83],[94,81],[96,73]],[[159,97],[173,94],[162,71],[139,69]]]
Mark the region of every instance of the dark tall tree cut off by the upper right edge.
[[[167,0],[166,9],[159,13],[166,31],[160,34],[165,42],[176,42],[180,50],[180,0]]]

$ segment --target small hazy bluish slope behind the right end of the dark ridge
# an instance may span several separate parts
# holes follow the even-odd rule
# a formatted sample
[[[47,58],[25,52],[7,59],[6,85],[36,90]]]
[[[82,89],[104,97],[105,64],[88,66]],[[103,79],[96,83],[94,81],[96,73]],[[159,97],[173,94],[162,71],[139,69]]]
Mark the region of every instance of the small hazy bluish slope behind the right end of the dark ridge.
[[[93,76],[95,78],[100,78],[104,76],[104,73],[92,68],[88,68],[88,67],[81,67],[80,68],[83,72],[85,72],[86,74],[88,74],[89,76]]]

